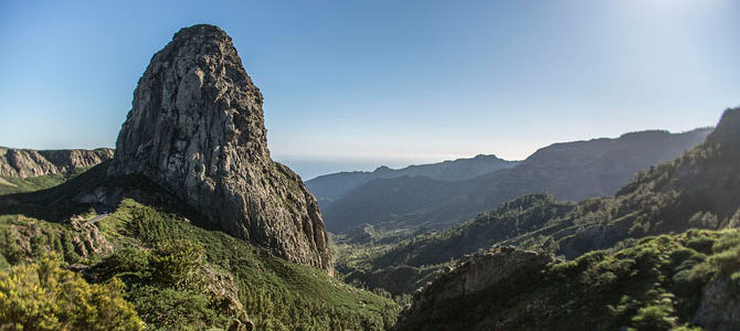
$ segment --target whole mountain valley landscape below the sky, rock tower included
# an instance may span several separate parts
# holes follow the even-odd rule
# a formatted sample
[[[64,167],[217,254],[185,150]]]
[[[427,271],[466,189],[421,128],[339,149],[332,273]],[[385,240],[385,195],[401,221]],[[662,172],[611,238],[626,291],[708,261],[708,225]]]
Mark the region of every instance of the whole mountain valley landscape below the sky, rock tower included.
[[[183,28],[115,149],[0,148],[0,330],[740,329],[740,108],[304,182],[242,61]]]

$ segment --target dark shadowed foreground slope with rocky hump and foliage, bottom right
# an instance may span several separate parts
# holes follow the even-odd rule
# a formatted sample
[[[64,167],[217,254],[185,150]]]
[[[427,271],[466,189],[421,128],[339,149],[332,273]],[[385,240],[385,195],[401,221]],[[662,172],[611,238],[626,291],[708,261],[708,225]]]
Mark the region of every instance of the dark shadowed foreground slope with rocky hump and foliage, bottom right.
[[[395,330],[736,330],[739,247],[737,229],[648,237],[569,261],[501,247],[414,295]]]

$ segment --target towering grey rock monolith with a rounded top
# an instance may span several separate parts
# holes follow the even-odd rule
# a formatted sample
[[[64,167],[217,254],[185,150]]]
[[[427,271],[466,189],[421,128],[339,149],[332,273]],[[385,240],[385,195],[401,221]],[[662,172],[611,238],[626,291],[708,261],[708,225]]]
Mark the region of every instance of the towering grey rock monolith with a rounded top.
[[[223,30],[184,28],[139,79],[108,174],[142,174],[230,234],[331,274],[316,200],[271,159],[262,103]]]

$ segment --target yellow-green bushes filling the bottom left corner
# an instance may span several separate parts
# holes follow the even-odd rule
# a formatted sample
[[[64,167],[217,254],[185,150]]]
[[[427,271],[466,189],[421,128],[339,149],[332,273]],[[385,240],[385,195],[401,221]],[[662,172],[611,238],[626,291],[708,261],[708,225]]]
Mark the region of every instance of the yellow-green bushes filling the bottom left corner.
[[[141,330],[123,282],[87,284],[55,255],[0,271],[0,329]]]

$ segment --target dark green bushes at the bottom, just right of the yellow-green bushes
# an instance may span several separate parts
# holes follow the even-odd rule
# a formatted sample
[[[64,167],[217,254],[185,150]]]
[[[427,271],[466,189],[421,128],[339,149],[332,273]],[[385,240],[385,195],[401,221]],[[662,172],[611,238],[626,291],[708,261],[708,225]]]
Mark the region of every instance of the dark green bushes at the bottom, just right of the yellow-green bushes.
[[[190,242],[162,242],[152,249],[130,246],[104,259],[92,274],[123,279],[126,299],[151,328],[225,329],[232,318],[220,306],[221,298],[205,291],[204,256],[203,247]]]

